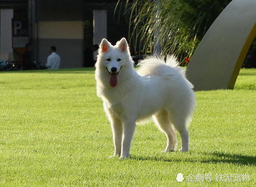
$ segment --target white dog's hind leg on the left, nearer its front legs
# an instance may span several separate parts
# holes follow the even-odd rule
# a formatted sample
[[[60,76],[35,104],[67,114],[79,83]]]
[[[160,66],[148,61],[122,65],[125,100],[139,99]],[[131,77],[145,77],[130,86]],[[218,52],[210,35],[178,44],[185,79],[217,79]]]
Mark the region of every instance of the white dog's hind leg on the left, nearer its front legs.
[[[174,151],[177,145],[176,132],[172,128],[167,111],[161,110],[153,116],[156,125],[167,137],[167,145],[165,150],[162,152]]]

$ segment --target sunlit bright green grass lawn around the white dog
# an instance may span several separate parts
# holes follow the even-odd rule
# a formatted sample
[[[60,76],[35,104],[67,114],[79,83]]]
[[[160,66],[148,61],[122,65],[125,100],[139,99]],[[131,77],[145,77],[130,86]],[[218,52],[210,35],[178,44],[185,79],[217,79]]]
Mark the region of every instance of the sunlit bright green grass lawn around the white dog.
[[[242,69],[234,90],[196,92],[189,152],[160,153],[166,137],[151,122],[137,126],[127,160],[108,159],[94,68],[0,72],[0,93],[1,187],[256,186],[256,69]],[[187,182],[190,174],[213,178]],[[250,182],[215,182],[216,174]]]

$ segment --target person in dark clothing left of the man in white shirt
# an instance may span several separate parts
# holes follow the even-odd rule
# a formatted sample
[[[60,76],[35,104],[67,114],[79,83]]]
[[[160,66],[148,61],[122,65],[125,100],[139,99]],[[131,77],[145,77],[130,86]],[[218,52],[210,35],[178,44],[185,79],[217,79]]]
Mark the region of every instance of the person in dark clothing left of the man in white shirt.
[[[35,70],[37,69],[37,66],[31,60],[33,46],[32,44],[27,43],[25,47],[26,51],[22,54],[22,70]]]

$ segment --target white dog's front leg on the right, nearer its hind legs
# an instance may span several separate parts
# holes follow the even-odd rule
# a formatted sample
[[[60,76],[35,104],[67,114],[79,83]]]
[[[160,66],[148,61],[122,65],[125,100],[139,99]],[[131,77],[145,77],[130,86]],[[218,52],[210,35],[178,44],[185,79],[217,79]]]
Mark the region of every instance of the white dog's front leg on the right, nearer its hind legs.
[[[123,122],[122,151],[119,159],[128,158],[130,156],[130,146],[132,143],[135,126],[135,120],[126,120]]]

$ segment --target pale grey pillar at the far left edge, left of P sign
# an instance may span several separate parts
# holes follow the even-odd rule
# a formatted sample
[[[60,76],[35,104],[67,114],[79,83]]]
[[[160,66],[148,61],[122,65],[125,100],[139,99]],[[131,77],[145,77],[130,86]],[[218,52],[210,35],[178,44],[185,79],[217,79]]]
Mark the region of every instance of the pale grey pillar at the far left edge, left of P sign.
[[[8,54],[12,53],[12,18],[13,9],[0,10],[0,59],[8,60]]]

